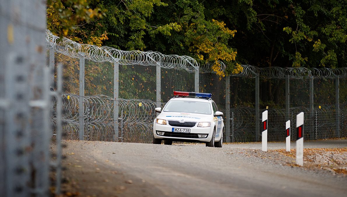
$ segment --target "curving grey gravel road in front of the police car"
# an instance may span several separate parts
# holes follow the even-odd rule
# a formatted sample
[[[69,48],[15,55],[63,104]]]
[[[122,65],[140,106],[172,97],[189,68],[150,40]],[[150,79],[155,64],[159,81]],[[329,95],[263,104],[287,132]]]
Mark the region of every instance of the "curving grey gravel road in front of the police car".
[[[295,166],[293,158],[260,151],[260,143],[224,144],[222,148],[204,144],[63,143],[67,145],[63,165],[68,182],[64,190],[81,196],[347,194],[345,174]],[[342,148],[347,147],[347,140],[304,144],[304,148]],[[285,144],[269,143],[268,148],[285,148]]]

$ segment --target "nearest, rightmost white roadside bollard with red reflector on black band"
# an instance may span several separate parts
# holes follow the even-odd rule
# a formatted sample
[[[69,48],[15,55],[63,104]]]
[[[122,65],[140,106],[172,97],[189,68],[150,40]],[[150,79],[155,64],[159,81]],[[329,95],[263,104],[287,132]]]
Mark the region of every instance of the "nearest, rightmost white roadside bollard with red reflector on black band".
[[[296,164],[304,165],[304,112],[296,115]]]

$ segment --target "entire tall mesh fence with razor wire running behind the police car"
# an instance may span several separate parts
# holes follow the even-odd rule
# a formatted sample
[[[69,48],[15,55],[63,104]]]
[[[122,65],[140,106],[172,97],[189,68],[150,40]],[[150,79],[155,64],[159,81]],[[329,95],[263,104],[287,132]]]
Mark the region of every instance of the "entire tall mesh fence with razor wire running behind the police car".
[[[259,141],[265,110],[270,141],[284,141],[285,122],[294,128],[301,111],[305,139],[346,136],[346,68],[243,65],[240,74],[220,77],[211,65],[198,67],[187,56],[99,48],[49,31],[46,44],[54,51],[48,62],[64,65],[65,139],[151,143],[154,108],[163,107],[173,91],[212,93],[225,114],[226,142]]]

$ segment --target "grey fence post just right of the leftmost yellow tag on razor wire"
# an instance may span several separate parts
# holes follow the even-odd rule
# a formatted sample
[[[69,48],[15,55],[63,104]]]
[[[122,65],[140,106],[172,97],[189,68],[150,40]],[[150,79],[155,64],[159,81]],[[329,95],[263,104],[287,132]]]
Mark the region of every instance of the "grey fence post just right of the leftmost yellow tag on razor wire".
[[[79,56],[79,140],[84,140],[84,53],[78,52]]]

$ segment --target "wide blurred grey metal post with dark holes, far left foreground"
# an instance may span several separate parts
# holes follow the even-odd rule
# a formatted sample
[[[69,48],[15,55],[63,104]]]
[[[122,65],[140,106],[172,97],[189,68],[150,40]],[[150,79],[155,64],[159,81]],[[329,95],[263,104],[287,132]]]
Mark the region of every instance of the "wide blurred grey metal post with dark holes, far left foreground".
[[[3,190],[2,195],[29,196],[27,183],[30,181],[29,155],[31,153],[26,151],[25,148],[31,146],[30,139],[32,137],[29,128],[29,90],[31,88],[29,88],[28,83],[28,68],[30,62],[25,61],[23,51],[20,53],[18,47],[12,46],[6,50],[6,45],[0,47],[4,49],[3,51],[9,50],[0,60],[3,63],[0,68],[3,68],[2,72],[4,72],[0,80],[1,85],[5,86],[2,87],[5,94],[0,101],[4,111],[1,113],[1,119],[4,121],[1,125],[4,126],[0,128],[0,133],[1,137],[4,138],[1,142],[6,145],[1,144],[0,153],[0,160],[3,160],[2,156],[5,159],[3,160],[5,165],[2,165],[0,169],[1,181],[3,179],[2,175],[4,175],[5,180],[3,183],[6,186],[3,188],[6,191]],[[17,95],[20,95],[20,97]],[[5,148],[4,153],[2,153],[2,148]],[[2,168],[4,171],[2,171]],[[17,169],[21,169],[21,171],[16,173]]]

